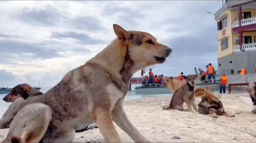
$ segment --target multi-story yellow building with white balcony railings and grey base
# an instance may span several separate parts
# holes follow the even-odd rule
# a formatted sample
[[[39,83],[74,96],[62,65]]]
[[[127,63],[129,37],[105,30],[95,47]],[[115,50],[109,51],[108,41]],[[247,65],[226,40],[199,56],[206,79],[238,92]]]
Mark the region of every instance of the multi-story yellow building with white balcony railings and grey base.
[[[256,73],[256,1],[225,1],[214,14],[218,30],[218,70]]]

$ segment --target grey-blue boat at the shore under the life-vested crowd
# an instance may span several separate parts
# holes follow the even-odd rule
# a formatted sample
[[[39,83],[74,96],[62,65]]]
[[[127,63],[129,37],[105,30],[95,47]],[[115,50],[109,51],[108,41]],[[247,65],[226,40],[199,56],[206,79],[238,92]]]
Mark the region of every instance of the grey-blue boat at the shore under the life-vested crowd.
[[[135,88],[136,94],[168,94],[172,93],[170,88],[161,84],[142,84],[141,87]]]

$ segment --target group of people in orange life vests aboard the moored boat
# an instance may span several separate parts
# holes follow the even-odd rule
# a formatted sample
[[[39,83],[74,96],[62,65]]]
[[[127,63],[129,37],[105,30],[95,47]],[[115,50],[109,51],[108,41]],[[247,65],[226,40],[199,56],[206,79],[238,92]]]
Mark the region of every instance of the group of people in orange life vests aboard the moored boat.
[[[145,71],[142,71],[145,73]],[[143,76],[144,74],[142,74]],[[155,75],[152,68],[149,69],[149,76],[145,76],[142,84],[158,84],[164,86],[164,75]]]

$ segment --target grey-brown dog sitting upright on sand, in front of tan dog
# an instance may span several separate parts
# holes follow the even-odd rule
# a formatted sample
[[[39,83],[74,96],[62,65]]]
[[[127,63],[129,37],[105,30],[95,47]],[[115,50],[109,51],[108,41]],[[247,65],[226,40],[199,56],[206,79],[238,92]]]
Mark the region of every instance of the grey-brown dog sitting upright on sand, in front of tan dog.
[[[193,106],[193,108],[197,111],[197,106],[194,103],[194,87],[196,86],[196,82],[199,79],[199,74],[196,70],[196,67],[194,70],[196,75],[188,75],[186,84],[179,88],[171,97],[170,109],[184,111],[183,104],[185,102],[188,106],[188,109],[185,111],[192,111],[191,106]]]

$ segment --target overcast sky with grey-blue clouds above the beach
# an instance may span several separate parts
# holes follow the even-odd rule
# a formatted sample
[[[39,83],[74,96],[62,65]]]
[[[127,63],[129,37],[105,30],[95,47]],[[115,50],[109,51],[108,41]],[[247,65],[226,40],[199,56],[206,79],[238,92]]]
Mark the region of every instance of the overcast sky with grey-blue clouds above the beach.
[[[151,67],[156,75],[217,68],[217,24],[207,11],[219,8],[217,1],[1,1],[0,87],[56,85],[114,40],[113,23],[173,49]]]

